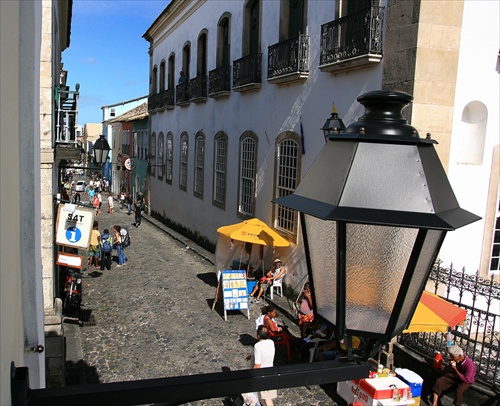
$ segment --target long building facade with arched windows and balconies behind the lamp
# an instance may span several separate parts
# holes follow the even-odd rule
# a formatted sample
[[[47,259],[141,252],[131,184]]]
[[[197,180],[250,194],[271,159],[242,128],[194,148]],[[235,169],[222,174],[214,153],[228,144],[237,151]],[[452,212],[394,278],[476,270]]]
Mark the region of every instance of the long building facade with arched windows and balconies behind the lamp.
[[[451,182],[461,206],[483,221],[457,233],[474,243],[454,238],[441,254],[476,272],[491,262],[496,209],[461,198],[473,186],[484,199],[498,195],[491,180],[498,177],[498,86],[489,82],[498,85],[498,21],[484,21],[496,11],[487,1],[172,1],[144,34],[150,148],[162,165],[151,172],[153,213],[213,243],[218,227],[258,217],[290,241],[267,256],[286,258],[294,287],[306,272],[297,214],[271,200],[291,193],[316,158],[332,102],[348,125],[363,114],[356,98],[364,92],[412,94],[404,115],[421,137],[438,141],[450,171],[458,171],[464,123],[482,104],[484,182],[471,184],[478,169],[471,167],[461,167],[467,182],[458,172]],[[486,37],[471,29],[477,24],[490,26]],[[478,42],[487,42],[486,76],[465,56]],[[472,73],[477,99],[462,83]],[[486,266],[480,272],[490,274]]]

